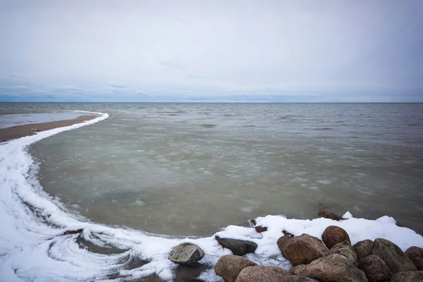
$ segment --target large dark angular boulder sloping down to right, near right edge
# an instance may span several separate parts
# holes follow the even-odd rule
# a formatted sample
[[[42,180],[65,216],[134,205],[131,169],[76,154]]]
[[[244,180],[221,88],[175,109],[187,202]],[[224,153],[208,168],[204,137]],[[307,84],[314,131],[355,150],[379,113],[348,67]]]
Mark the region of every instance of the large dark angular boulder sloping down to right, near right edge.
[[[390,240],[378,238],[374,240],[372,255],[380,257],[393,274],[402,271],[417,270],[405,253]]]

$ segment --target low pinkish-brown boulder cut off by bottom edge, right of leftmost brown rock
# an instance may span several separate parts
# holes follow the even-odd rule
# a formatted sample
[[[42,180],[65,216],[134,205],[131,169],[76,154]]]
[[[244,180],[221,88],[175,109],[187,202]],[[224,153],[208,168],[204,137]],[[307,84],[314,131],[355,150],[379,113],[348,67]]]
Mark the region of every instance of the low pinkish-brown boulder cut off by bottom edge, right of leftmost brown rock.
[[[276,266],[248,266],[241,270],[235,282],[281,282],[288,272]]]

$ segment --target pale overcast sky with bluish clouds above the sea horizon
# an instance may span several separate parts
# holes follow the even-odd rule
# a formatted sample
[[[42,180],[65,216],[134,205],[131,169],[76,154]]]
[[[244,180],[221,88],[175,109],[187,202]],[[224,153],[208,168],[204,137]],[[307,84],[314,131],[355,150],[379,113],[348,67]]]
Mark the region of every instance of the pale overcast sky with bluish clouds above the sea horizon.
[[[423,1],[0,0],[2,102],[423,102]]]

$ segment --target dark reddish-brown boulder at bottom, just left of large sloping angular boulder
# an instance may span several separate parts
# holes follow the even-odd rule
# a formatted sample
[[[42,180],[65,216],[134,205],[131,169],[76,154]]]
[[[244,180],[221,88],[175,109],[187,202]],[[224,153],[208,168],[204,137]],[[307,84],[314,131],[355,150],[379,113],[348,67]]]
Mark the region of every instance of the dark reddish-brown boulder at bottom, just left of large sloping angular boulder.
[[[361,259],[358,268],[366,274],[369,282],[387,282],[392,278],[392,271],[380,257],[375,255]]]

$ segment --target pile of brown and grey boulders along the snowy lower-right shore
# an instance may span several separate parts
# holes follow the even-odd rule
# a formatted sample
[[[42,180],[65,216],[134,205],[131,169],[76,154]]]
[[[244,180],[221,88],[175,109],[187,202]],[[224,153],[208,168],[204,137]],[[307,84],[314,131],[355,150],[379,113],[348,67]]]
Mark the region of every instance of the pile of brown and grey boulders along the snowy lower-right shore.
[[[240,240],[235,244],[237,247],[219,243],[227,245],[234,254],[221,257],[214,268],[226,282],[423,282],[423,271],[417,271],[423,266],[422,248],[410,247],[403,252],[382,238],[352,246],[348,233],[338,226],[326,228],[322,240],[308,234],[281,236],[276,244],[281,255],[293,265],[289,271],[259,266],[241,257],[250,246],[249,250],[255,251],[257,245],[252,242]]]

